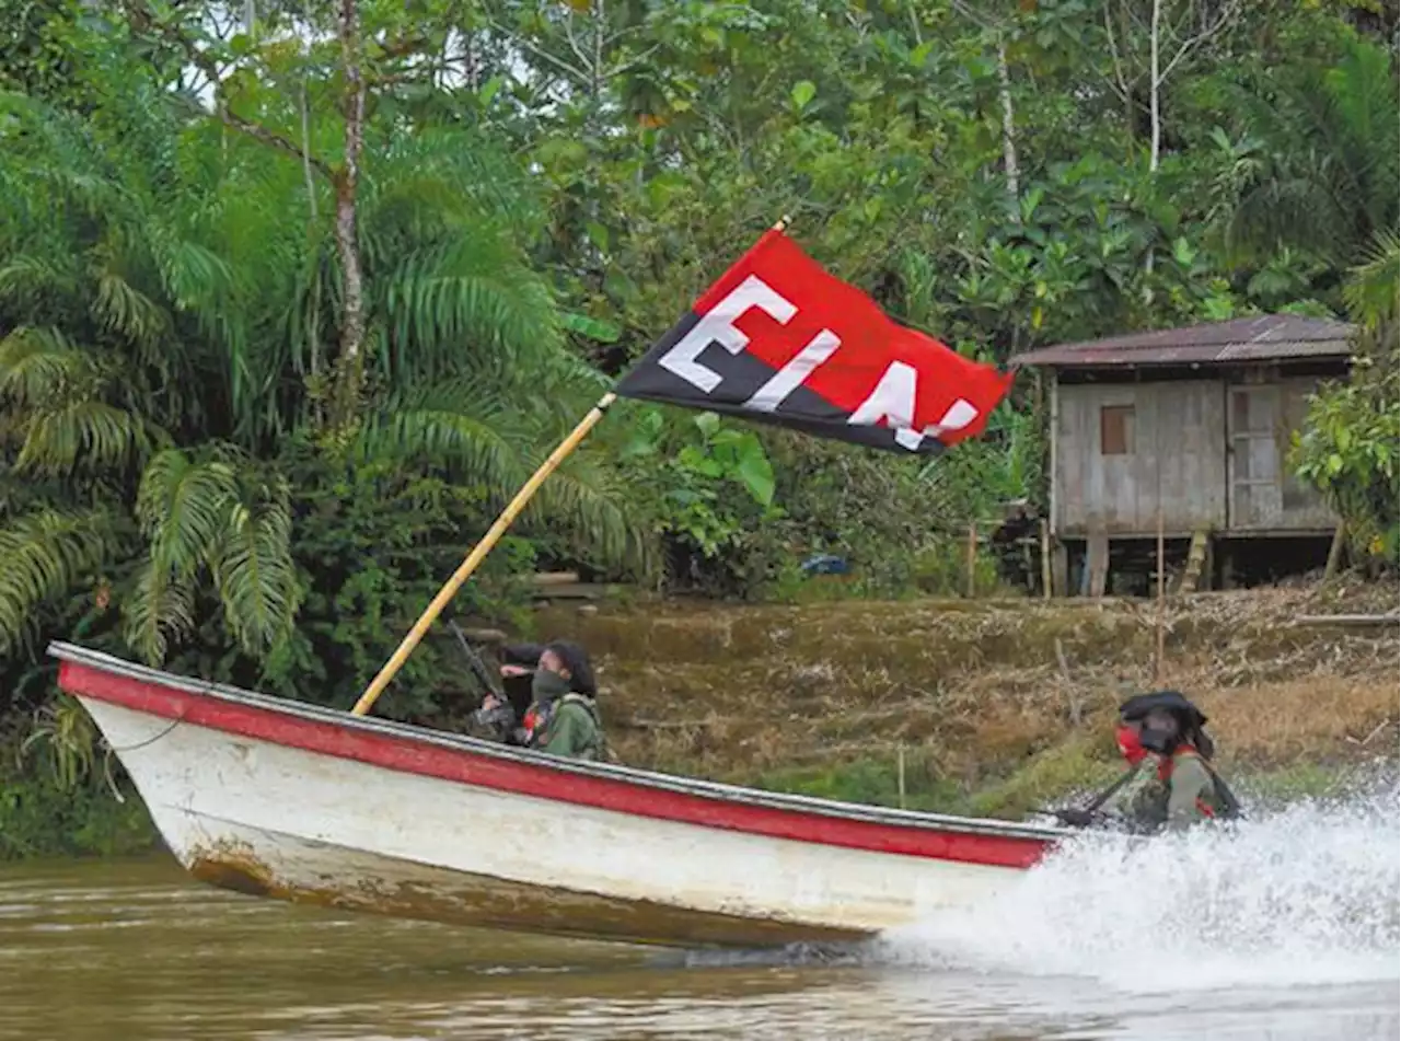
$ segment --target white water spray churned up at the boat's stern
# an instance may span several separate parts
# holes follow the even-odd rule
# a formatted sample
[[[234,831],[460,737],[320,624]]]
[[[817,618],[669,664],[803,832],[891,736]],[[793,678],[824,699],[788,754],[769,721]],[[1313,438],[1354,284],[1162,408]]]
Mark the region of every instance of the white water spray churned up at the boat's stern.
[[[1133,993],[1401,979],[1401,786],[1233,827],[1076,839],[999,899],[890,933],[883,961]]]

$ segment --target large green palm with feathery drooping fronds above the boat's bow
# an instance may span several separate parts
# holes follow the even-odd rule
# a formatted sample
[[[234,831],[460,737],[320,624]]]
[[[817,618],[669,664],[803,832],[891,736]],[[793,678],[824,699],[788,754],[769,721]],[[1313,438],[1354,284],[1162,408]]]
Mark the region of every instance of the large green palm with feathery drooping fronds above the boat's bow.
[[[0,654],[36,607],[133,559],[125,637],[153,661],[195,628],[200,590],[252,656],[298,608],[280,457],[318,436],[339,286],[328,210],[294,161],[168,102],[140,83],[81,119],[0,101]],[[360,227],[377,392],[318,450],[500,500],[598,377],[527,263],[538,210],[500,153],[468,130],[374,144]],[[534,518],[644,565],[625,503],[583,453]]]

